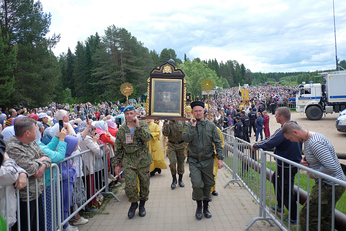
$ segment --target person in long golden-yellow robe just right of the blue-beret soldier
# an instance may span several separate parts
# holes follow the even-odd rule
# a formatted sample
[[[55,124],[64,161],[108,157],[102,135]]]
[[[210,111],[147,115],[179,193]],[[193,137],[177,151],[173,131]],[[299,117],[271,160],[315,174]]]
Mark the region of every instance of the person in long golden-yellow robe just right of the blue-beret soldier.
[[[167,164],[165,161],[165,157],[162,154],[162,149],[160,146],[160,135],[161,131],[160,128],[157,124],[152,123],[151,120],[146,120],[150,133],[151,133],[151,138],[147,142],[147,145],[149,147],[149,151],[151,153],[151,156],[153,158],[152,163],[150,164],[150,177],[155,176],[155,173],[158,172],[159,174],[161,173],[161,169],[167,169]]]

